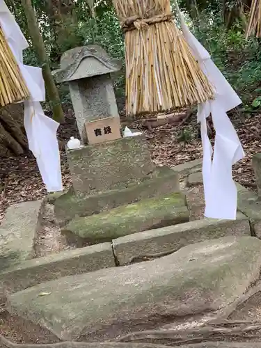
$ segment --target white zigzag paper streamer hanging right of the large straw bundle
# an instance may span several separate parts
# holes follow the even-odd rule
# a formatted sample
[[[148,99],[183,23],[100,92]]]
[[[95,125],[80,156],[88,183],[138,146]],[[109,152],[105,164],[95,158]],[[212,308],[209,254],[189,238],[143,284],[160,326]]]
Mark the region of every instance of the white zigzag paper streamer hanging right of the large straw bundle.
[[[214,100],[198,105],[198,122],[201,125],[203,143],[205,216],[235,220],[237,187],[232,180],[232,165],[244,157],[244,150],[226,112],[234,109],[242,101],[213,63],[207,50],[189,31],[178,6],[177,10],[180,14],[182,31],[191,47],[191,52],[216,90]],[[206,118],[210,113],[216,130],[214,152],[207,136]]]

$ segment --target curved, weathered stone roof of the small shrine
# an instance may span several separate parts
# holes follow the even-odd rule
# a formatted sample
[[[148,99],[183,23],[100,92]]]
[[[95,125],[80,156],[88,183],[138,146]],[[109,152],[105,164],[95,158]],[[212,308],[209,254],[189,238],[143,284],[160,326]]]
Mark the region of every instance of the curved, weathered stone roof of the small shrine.
[[[98,45],[76,47],[61,56],[61,68],[52,72],[56,82],[74,81],[117,72],[122,68],[118,59]]]

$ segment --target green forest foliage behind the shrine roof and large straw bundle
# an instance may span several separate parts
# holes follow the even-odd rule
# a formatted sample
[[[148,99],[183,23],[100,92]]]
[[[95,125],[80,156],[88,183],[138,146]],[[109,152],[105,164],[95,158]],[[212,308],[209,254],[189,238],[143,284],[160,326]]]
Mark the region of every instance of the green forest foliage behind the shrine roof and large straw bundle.
[[[244,108],[261,105],[261,51],[256,38],[245,39],[249,0],[180,0],[191,31],[205,46],[216,65],[237,90]],[[20,1],[7,0],[19,26],[30,41]],[[52,69],[58,68],[66,50],[96,43],[124,63],[124,40],[111,0],[32,0],[40,32]],[[25,62],[39,65],[33,45]],[[115,80],[116,95],[124,95],[125,74]],[[68,89],[61,86],[61,100],[70,102]]]

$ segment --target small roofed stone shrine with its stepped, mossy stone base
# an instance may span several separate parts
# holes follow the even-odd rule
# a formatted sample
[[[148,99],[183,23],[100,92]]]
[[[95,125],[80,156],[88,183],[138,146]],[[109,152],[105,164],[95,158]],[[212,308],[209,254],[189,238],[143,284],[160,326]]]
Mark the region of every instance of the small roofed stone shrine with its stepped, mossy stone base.
[[[118,61],[94,45],[65,52],[61,70],[54,72],[57,82],[69,84],[82,144],[80,148],[67,150],[72,189],[55,200],[56,219],[65,225],[95,214],[92,219],[95,223],[96,217],[105,221],[116,214],[118,217],[111,222],[111,228],[115,228],[118,219],[125,221],[126,214],[135,217],[143,210],[146,216],[141,216],[143,224],[138,224],[145,229],[188,221],[177,173],[152,163],[143,134],[122,138],[110,75],[119,69]],[[171,193],[175,196],[165,197],[167,204],[161,196]],[[143,200],[145,209],[141,207]],[[138,201],[141,204],[136,212],[138,206],[132,203]],[[122,209],[100,216],[122,205]],[[92,231],[92,226],[88,230]]]

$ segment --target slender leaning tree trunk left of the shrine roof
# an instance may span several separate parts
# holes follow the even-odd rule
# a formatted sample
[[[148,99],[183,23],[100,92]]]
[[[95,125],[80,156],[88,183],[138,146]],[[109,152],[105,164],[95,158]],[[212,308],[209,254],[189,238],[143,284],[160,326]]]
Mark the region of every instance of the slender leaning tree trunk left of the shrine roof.
[[[45,79],[45,87],[47,89],[50,104],[52,105],[54,120],[58,122],[65,122],[58,90],[52,77],[49,59],[47,58],[47,54],[45,52],[45,44],[42,40],[42,35],[40,34],[31,0],[22,0],[22,6],[26,15],[26,21],[31,40],[33,42],[33,47],[35,48],[35,52],[38,55],[39,61],[42,65],[42,76]]]

